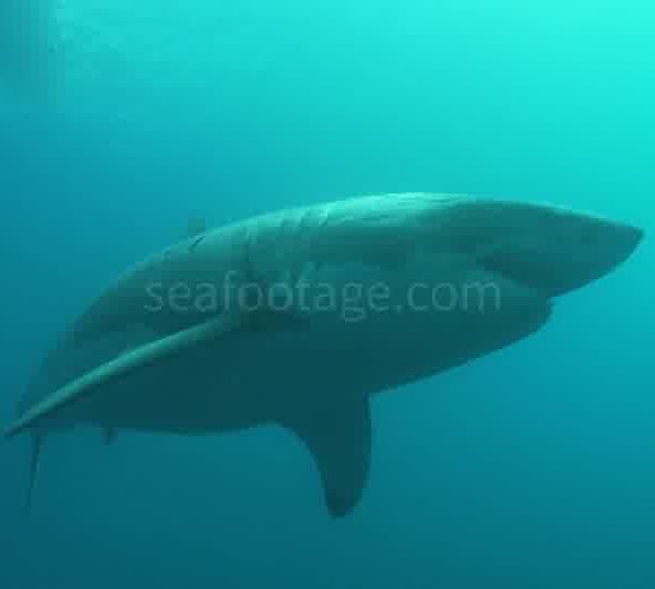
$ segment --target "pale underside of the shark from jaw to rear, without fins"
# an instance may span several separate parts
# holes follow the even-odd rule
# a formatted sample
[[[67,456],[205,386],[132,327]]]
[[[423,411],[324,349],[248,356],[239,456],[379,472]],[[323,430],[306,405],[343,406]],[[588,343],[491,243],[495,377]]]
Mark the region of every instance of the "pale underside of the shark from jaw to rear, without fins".
[[[380,269],[312,269],[305,273],[312,288],[294,291],[281,314],[258,318],[255,311],[251,328],[103,386],[62,418],[188,434],[241,430],[283,420],[298,404],[425,378],[505,347],[548,318],[550,302],[529,288],[446,262],[438,281],[420,257]]]

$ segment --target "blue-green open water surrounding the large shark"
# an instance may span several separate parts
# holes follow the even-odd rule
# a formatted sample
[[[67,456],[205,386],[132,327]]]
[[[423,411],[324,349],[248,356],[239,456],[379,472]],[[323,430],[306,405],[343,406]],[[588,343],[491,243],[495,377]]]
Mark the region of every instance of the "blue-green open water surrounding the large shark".
[[[425,190],[655,229],[645,0],[44,5],[53,96],[0,100],[3,426],[67,323],[190,218]],[[654,256],[377,397],[344,520],[273,428],[52,436],[29,518],[27,441],[0,444],[0,588],[655,587]]]

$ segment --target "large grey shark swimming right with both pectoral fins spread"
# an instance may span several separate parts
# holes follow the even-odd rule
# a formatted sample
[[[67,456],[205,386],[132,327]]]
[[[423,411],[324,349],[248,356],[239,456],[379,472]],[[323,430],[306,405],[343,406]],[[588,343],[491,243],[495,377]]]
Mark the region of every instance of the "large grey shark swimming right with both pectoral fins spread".
[[[7,435],[84,423],[110,442],[279,424],[305,442],[329,512],[344,516],[369,476],[372,395],[535,333],[556,297],[611,272],[642,237],[555,206],[427,193],[193,236],[121,276],[58,354],[140,339],[33,393]]]

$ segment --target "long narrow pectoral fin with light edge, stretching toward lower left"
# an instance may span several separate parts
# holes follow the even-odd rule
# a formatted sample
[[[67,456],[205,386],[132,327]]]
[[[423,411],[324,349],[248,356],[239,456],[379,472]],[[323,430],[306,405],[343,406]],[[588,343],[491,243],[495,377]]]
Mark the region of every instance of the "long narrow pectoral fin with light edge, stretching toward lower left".
[[[35,426],[43,420],[52,417],[67,406],[91,395],[98,388],[110,384],[130,373],[158,364],[183,351],[206,344],[229,333],[241,325],[240,314],[224,313],[221,317],[195,325],[183,332],[164,337],[98,366],[84,376],[63,386],[41,402],[35,405],[5,432],[5,437]]]

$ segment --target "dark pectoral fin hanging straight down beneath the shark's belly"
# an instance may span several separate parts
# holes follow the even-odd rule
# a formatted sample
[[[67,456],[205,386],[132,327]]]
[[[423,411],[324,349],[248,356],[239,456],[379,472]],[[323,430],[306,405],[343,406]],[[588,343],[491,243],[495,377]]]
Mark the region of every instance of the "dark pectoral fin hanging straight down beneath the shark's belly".
[[[344,517],[359,503],[371,462],[371,416],[368,399],[330,399],[283,425],[300,437],[321,473],[325,503],[333,517]]]

